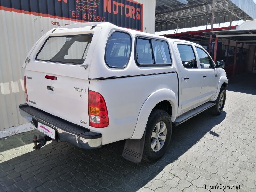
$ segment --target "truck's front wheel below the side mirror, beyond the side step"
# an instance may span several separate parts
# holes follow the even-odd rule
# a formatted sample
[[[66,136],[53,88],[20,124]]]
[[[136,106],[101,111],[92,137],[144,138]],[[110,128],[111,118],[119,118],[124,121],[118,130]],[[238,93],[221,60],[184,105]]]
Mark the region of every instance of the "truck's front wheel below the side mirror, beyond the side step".
[[[221,87],[220,93],[216,100],[216,105],[209,108],[210,113],[212,113],[213,115],[220,115],[224,108],[225,101],[226,101],[226,89],[225,87]]]

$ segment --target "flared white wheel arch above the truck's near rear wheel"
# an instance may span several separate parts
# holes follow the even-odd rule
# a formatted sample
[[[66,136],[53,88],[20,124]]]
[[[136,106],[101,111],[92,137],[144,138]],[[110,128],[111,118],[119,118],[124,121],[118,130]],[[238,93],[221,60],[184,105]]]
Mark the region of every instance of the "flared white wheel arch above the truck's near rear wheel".
[[[168,107],[166,108],[164,104],[167,104],[169,107],[171,106],[171,109]],[[177,94],[170,89],[160,89],[149,95],[140,109],[137,124],[131,139],[142,138],[148,117],[154,108],[165,110],[171,116],[171,121],[174,122],[178,109]]]

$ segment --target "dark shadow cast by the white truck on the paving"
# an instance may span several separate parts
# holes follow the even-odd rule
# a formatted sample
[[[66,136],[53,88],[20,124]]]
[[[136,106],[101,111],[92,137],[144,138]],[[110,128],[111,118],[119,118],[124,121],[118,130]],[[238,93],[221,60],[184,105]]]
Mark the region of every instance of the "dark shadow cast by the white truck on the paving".
[[[0,191],[137,191],[206,134],[218,137],[211,129],[225,117],[225,111],[219,116],[204,111],[173,128],[166,154],[155,163],[134,164],[123,159],[124,140],[96,150],[83,150],[65,142],[48,144],[0,163]]]

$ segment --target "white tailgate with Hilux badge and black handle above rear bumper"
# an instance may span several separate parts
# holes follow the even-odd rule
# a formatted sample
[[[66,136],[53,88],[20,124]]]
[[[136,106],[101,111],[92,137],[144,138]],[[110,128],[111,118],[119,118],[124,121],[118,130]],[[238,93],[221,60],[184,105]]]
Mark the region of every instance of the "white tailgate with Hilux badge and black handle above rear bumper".
[[[57,80],[46,79],[46,75]],[[28,70],[25,76],[29,105],[89,128],[89,80]]]

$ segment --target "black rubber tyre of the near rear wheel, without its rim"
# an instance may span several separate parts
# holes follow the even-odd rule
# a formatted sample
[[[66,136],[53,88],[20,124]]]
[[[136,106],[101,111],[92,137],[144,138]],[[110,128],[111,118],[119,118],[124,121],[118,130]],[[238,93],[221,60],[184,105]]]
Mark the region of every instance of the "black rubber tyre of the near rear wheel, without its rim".
[[[159,122],[164,122],[166,125],[166,138],[159,151],[154,151],[151,148],[151,136]],[[169,114],[163,110],[154,109],[149,118],[146,126],[145,145],[143,151],[143,159],[148,162],[154,162],[160,159],[166,152],[172,136],[172,122]],[[160,139],[161,141],[161,139]],[[163,141],[161,141],[163,142]]]

